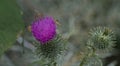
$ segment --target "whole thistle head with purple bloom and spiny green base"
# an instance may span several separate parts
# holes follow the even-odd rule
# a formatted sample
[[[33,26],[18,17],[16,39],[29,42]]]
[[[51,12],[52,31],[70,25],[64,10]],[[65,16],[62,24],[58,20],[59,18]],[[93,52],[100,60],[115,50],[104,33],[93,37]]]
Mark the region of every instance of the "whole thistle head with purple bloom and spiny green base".
[[[31,25],[31,32],[39,41],[35,43],[36,55],[44,59],[56,59],[65,50],[62,37],[56,33],[55,22],[52,17],[46,16]]]

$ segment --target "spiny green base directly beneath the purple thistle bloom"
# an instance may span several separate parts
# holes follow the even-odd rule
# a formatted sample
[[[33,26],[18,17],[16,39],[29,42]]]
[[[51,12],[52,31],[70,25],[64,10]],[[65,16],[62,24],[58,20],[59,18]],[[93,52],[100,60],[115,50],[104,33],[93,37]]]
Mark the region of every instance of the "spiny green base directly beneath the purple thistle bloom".
[[[47,59],[56,59],[62,52],[65,50],[64,40],[60,35],[47,42],[46,44],[37,44],[36,45],[36,54],[39,57]]]

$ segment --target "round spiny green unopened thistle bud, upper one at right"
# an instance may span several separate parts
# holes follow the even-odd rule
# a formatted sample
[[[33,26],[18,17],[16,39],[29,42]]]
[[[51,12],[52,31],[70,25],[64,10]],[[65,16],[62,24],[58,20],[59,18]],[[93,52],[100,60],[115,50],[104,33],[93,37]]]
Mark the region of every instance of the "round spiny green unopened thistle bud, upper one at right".
[[[88,45],[95,50],[109,51],[114,47],[114,40],[115,36],[112,30],[106,27],[97,27],[90,31]]]

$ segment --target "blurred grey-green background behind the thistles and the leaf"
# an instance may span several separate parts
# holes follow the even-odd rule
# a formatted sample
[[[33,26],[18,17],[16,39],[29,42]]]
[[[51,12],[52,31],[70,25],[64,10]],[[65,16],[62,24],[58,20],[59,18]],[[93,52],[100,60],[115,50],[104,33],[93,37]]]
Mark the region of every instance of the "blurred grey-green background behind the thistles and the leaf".
[[[104,66],[120,66],[120,0],[17,0],[25,27],[37,14],[50,15],[58,20],[58,33],[68,39],[68,49],[60,66],[79,66],[91,28],[102,26],[112,29],[117,38],[112,52],[101,53]],[[24,40],[24,47],[21,46]],[[0,66],[42,66],[34,55],[34,38],[26,29],[0,59]],[[23,53],[24,49],[24,53]],[[64,59],[64,60],[63,60]]]

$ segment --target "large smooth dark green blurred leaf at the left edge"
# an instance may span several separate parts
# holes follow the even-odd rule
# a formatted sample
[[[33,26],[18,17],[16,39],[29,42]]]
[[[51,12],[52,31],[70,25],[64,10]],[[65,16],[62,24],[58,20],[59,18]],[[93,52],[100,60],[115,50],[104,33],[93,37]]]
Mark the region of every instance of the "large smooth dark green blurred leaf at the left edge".
[[[0,55],[14,44],[23,27],[16,0],[0,0]]]

